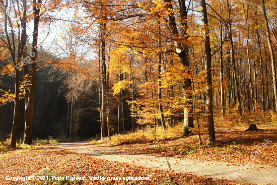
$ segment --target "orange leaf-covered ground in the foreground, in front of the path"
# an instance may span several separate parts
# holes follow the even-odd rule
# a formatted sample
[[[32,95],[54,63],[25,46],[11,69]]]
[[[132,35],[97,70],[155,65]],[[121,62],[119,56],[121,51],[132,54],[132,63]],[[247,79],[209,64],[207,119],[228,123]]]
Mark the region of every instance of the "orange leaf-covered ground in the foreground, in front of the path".
[[[88,155],[73,153],[47,145],[32,150],[14,151],[3,154],[0,159],[0,184],[246,184],[224,179],[213,179],[192,174],[174,173],[134,166]],[[11,181],[6,177],[48,176],[49,180]],[[51,179],[56,177],[86,177],[88,180]],[[150,180],[89,180],[102,177],[150,177]]]

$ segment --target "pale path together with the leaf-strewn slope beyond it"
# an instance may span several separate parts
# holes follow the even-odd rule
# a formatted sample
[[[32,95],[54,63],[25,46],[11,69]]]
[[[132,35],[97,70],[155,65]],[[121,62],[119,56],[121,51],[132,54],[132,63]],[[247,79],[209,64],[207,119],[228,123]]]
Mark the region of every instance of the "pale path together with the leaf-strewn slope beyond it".
[[[277,184],[277,129],[269,125],[258,127],[259,132],[245,132],[246,127],[243,126],[232,130],[221,128],[217,130],[217,142],[213,145],[199,145],[198,136],[190,135],[153,142],[126,143],[119,139],[123,143],[113,144],[106,139],[58,146],[101,159],[152,169]]]

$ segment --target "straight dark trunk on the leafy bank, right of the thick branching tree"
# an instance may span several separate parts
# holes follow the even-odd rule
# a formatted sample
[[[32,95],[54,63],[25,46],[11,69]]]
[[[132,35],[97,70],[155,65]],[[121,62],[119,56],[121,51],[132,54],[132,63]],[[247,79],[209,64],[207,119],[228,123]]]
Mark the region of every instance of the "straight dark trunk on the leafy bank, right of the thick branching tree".
[[[214,110],[213,110],[213,81],[212,81],[212,55],[211,55],[211,46],[210,46],[210,30],[207,20],[207,10],[206,10],[206,1],[201,0],[201,12],[202,12],[202,22],[205,31],[205,81],[206,81],[206,114],[207,114],[207,129],[208,129],[208,138],[207,142],[215,142],[215,126],[214,126]]]

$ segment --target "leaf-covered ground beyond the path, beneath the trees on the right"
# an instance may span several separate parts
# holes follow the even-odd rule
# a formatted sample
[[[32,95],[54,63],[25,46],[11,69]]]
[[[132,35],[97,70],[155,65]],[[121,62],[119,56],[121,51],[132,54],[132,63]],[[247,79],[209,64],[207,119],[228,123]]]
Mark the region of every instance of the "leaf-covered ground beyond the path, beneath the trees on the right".
[[[128,142],[126,136],[117,135],[113,140],[121,143],[104,140],[92,142],[91,147],[93,150],[111,150],[131,154],[172,156],[183,159],[224,161],[237,164],[243,163],[247,157],[250,157],[260,148],[264,150],[251,163],[277,166],[277,128],[271,125],[258,125],[258,128],[260,129],[258,132],[245,132],[247,126],[236,127],[236,129],[218,127],[216,128],[217,142],[212,145],[200,145],[197,134],[182,138],[146,140],[146,142],[143,142],[144,137],[141,137],[142,140],[140,140],[140,137],[136,136],[136,141],[130,139]],[[141,135],[147,138],[148,134],[154,132],[144,132]],[[201,137],[204,143],[206,135]],[[267,140],[267,138],[271,142],[264,146],[263,143],[266,144],[264,140]]]

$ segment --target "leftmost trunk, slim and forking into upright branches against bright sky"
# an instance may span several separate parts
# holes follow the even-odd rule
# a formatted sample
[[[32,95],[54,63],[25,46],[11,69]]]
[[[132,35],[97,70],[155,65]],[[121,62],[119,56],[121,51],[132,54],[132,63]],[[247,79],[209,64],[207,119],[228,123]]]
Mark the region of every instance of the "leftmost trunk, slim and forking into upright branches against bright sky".
[[[3,36],[5,36],[5,47],[9,50],[10,58],[12,59],[12,63],[15,67],[15,71],[11,72],[10,75],[14,77],[15,82],[15,97],[14,97],[14,115],[13,115],[13,127],[11,131],[11,138],[10,138],[10,145],[11,147],[16,147],[16,141],[17,141],[17,129],[19,126],[19,119],[20,119],[20,102],[22,98],[22,94],[20,94],[20,83],[19,83],[19,68],[20,63],[22,61],[23,53],[26,49],[26,1],[22,1],[24,11],[21,12],[19,10],[19,2],[9,2],[7,1],[1,1],[2,7],[5,11],[4,15],[4,29]],[[10,6],[11,5],[11,6]],[[17,23],[17,29],[19,29],[18,32],[14,31],[13,24],[11,17],[8,16],[7,11],[16,11],[18,14],[22,14],[20,19]],[[10,28],[10,30],[9,30]],[[21,30],[21,31],[20,31]]]

